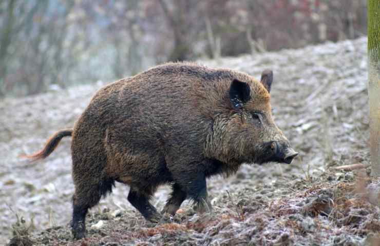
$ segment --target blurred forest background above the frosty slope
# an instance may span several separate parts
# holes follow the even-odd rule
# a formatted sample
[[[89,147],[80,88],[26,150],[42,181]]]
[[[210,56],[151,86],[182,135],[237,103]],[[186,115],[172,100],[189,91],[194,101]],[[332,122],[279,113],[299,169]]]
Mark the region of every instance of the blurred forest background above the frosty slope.
[[[366,0],[3,0],[0,98],[366,35]],[[307,54],[306,54],[307,55]]]

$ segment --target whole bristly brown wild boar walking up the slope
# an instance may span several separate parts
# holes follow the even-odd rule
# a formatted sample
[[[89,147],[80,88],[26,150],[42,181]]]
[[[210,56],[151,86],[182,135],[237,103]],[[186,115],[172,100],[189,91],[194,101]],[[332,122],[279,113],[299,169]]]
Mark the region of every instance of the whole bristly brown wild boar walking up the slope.
[[[157,187],[173,188],[162,213],[186,199],[210,210],[206,178],[235,173],[242,163],[290,163],[298,154],[272,119],[273,73],[258,81],[229,69],[168,63],[100,89],[73,129],[53,135],[28,157],[47,157],[71,136],[72,233],[85,236],[85,216],[115,181],[130,187],[128,201],[149,221]]]

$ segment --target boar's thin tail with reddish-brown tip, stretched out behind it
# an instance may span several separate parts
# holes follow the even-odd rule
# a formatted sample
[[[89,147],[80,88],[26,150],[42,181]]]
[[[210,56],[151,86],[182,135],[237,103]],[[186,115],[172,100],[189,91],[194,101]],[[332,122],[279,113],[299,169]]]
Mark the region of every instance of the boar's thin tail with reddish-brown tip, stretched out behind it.
[[[58,146],[59,142],[63,137],[71,136],[73,130],[72,129],[64,129],[61,131],[58,131],[54,133],[46,142],[44,149],[40,150],[39,152],[35,152],[31,155],[24,155],[21,156],[23,158],[29,158],[32,161],[45,159],[48,157],[51,152],[54,151],[54,149]]]

